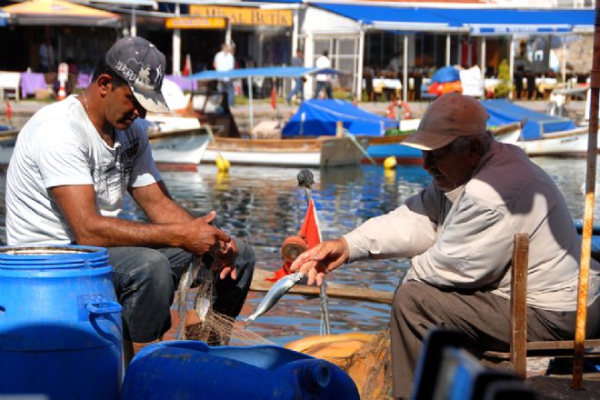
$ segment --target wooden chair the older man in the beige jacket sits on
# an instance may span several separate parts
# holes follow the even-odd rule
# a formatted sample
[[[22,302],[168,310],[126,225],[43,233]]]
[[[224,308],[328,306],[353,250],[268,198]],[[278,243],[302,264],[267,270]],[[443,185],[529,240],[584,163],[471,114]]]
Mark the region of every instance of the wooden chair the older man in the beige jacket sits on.
[[[525,378],[527,356],[573,355],[574,340],[527,342],[527,265],[529,235],[516,234],[511,268],[510,345],[508,353],[487,351],[483,358],[508,361]],[[600,355],[600,339],[585,340],[585,355]]]

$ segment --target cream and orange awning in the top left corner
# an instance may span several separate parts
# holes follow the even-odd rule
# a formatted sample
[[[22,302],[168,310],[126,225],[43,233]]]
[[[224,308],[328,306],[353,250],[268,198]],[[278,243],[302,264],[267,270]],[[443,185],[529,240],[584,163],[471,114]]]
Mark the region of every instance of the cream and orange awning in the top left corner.
[[[120,16],[65,0],[32,0],[7,5],[2,12],[9,14],[9,24],[17,25],[75,25],[116,26]]]

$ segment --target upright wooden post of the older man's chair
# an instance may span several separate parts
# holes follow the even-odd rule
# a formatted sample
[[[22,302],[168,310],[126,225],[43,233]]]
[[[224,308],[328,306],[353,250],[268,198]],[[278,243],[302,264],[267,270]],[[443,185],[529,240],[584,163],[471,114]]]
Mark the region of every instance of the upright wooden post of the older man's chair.
[[[527,265],[529,235],[516,234],[511,268],[510,361],[515,374],[527,375]]]

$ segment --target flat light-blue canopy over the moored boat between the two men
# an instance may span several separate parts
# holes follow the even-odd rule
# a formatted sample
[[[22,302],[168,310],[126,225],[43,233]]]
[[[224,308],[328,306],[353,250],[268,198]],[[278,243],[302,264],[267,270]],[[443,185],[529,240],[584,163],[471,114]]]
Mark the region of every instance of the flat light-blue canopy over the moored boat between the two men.
[[[232,69],[231,71],[202,71],[187,76],[187,79],[207,81],[217,79],[242,79],[248,77],[293,78],[313,74],[334,75],[339,74],[339,71],[331,68],[307,68],[305,66],[265,66],[261,68]]]

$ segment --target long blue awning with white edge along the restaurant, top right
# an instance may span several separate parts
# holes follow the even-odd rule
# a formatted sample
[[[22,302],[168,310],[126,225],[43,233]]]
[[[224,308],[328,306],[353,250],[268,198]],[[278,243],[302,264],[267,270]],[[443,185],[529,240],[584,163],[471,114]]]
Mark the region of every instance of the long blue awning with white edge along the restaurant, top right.
[[[592,9],[428,8],[311,3],[379,30],[471,35],[567,34],[594,29]]]

